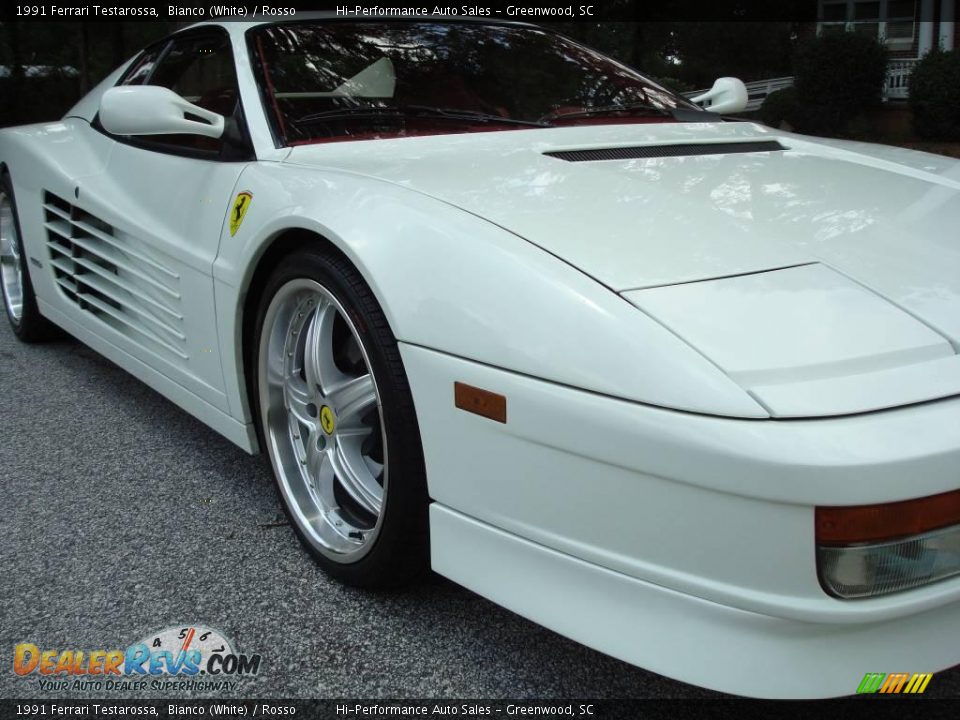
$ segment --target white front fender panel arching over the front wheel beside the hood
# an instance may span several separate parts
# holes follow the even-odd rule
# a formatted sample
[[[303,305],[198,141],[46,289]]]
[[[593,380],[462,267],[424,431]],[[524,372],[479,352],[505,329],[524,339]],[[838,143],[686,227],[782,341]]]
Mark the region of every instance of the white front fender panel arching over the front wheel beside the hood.
[[[235,345],[224,348],[236,363],[225,371],[239,388],[246,289],[270,243],[299,228],[353,262],[401,342],[650,405],[767,417],[711,362],[613,291],[442,201],[280,163],[251,165],[237,191],[253,200],[235,236],[225,224],[214,276],[221,337]]]

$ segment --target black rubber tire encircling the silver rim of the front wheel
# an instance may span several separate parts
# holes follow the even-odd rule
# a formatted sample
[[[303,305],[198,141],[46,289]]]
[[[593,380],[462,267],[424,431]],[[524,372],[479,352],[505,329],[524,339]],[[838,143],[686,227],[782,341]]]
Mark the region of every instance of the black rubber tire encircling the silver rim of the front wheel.
[[[341,562],[318,550],[307,537],[284,497],[277,458],[265,439],[261,407],[260,357],[268,308],[291,281],[312,280],[322,285],[349,314],[366,352],[369,372],[381,401],[389,481],[385,483],[379,531],[372,546],[358,560]],[[248,367],[253,382],[251,402],[260,447],[270,457],[275,485],[290,525],[317,563],[338,580],[363,588],[387,589],[410,583],[429,567],[429,523],[426,472],[420,430],[397,341],[386,317],[363,278],[342,256],[304,248],[282,259],[266,281],[259,298]],[[269,332],[269,329],[267,329]],[[265,351],[268,353],[268,351]],[[386,473],[385,473],[386,476]]]

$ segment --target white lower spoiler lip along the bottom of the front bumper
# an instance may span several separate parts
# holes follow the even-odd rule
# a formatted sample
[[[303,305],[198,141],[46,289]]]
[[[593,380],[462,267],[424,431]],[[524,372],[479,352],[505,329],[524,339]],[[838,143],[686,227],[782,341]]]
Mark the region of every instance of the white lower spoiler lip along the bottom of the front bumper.
[[[960,603],[885,623],[785,620],[607,570],[438,504],[430,532],[441,575],[584,645],[713,690],[837,697],[867,672],[934,671],[958,659]]]

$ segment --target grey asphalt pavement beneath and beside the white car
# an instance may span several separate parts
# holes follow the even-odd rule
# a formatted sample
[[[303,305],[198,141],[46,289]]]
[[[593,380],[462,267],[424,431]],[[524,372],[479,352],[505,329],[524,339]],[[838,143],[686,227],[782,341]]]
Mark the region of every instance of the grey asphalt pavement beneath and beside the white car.
[[[263,664],[231,692],[169,697],[717,697],[436,576],[390,594],[328,579],[263,459],[81,343],[23,345],[2,317],[0,482],[0,698],[89,696],[15,675],[19,643],[122,649],[181,624]],[[927,695],[960,697],[960,667]]]

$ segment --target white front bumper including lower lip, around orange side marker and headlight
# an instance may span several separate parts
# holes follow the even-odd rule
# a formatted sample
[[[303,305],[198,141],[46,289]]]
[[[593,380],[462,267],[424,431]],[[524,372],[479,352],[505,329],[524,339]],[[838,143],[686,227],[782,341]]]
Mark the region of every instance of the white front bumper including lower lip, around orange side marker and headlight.
[[[813,532],[818,504],[957,489],[960,400],[731,420],[402,352],[438,572],[584,644],[728,692],[842,695],[868,671],[960,661],[949,634],[960,578],[837,600],[817,580]],[[507,423],[457,410],[455,381],[505,395]]]

